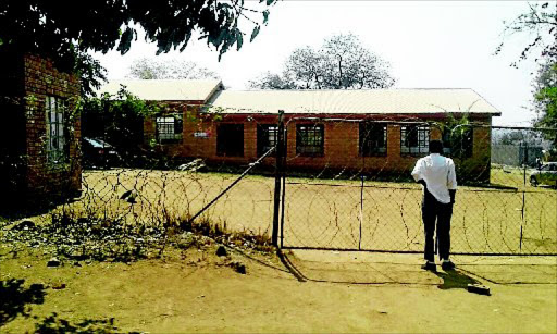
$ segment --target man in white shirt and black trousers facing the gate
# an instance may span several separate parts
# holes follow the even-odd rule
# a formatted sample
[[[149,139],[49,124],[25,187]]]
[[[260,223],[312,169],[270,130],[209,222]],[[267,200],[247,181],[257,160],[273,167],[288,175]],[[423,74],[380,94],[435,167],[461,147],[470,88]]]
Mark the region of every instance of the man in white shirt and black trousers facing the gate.
[[[423,186],[422,220],[425,231],[425,264],[422,269],[436,271],[434,260],[435,221],[437,221],[437,250],[443,270],[455,269],[449,260],[450,218],[457,191],[457,177],[453,159],[445,158],[443,143],[430,141],[430,154],[416,163],[412,176]]]

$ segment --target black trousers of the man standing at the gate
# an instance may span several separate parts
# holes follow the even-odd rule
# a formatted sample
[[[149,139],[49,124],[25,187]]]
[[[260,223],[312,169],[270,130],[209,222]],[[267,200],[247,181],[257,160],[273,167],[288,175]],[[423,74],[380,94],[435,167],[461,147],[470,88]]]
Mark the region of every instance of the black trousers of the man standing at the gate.
[[[440,259],[448,260],[450,253],[450,218],[453,203],[442,203],[428,189],[422,201],[422,220],[425,234],[424,258],[433,262],[435,257],[434,235],[437,230],[437,251]]]

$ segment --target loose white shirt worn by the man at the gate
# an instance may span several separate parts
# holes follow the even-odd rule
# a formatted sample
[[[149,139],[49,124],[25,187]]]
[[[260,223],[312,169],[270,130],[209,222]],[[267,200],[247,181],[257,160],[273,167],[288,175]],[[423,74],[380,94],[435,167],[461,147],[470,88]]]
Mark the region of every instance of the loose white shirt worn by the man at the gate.
[[[448,190],[457,188],[457,174],[453,159],[438,153],[431,153],[418,160],[412,176],[416,181],[425,181],[428,190],[442,203],[449,203]]]

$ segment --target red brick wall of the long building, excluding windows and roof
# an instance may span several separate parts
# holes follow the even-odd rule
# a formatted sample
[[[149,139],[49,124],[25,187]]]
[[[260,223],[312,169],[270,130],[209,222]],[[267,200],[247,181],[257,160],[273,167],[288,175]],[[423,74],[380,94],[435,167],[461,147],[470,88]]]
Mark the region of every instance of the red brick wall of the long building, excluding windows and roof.
[[[185,112],[183,140],[178,145],[168,147],[176,157],[201,158],[208,163],[230,163],[247,165],[257,159],[257,125],[276,124],[277,115],[258,114],[224,114],[207,115],[197,114],[195,110]],[[307,115],[288,115],[289,119]],[[312,115],[323,116],[323,115]],[[331,116],[331,115],[327,115]],[[434,117],[422,115],[417,120],[442,122],[444,115]],[[346,115],[344,116],[346,117]],[[352,119],[369,117],[362,115],[350,115]],[[391,117],[393,123],[387,125],[387,154],[385,157],[361,157],[359,154],[359,123],[358,122],[315,122],[292,120],[287,122],[287,164],[289,168],[302,170],[330,171],[361,171],[364,173],[392,173],[409,174],[419,157],[400,154],[400,124],[397,121],[407,120],[400,115],[398,119]],[[491,125],[491,117],[472,120],[485,125]],[[216,128],[221,123],[244,124],[244,157],[219,157],[216,154]],[[297,124],[323,124],[324,126],[324,154],[322,157],[302,157],[296,154],[296,125]],[[148,124],[148,123],[146,123]],[[153,125],[146,125],[153,126]],[[208,137],[196,137],[195,133],[207,133]],[[431,127],[430,138],[441,139],[441,129]],[[490,180],[490,156],[491,156],[491,132],[488,127],[474,128],[473,156],[463,161],[455,159],[457,166],[462,173],[470,173],[478,176],[478,181],[488,182]],[[263,164],[272,166],[274,158],[265,159]]]

